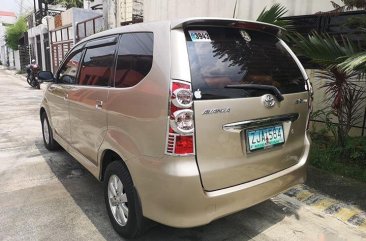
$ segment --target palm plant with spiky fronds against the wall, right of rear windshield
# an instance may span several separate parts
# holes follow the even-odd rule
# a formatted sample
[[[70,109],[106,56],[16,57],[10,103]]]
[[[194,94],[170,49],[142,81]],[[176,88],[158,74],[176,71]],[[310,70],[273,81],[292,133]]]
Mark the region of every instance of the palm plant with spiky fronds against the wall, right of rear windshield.
[[[319,65],[316,77],[325,81],[323,88],[327,101],[338,119],[337,141],[344,147],[348,132],[357,121],[360,103],[364,100],[363,89],[351,81],[356,77],[352,69],[341,68],[343,60],[358,52],[347,38],[338,41],[325,33],[312,33],[304,37],[298,33],[289,36],[297,54]]]

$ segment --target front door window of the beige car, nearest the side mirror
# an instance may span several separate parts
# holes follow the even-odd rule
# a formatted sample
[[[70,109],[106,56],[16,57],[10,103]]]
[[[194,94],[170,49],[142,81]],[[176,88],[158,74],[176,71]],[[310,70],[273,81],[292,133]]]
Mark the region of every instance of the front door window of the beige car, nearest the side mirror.
[[[76,83],[76,75],[78,72],[78,67],[80,63],[82,51],[77,50],[72,53],[64,65],[61,67],[58,73],[58,83],[61,84],[75,84]]]

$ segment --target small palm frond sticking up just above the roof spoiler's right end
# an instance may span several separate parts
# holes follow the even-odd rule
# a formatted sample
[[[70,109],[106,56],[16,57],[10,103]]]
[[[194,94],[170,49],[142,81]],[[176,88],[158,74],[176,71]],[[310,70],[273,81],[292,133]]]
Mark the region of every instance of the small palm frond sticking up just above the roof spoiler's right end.
[[[274,24],[285,29],[291,29],[291,21],[280,19],[287,13],[286,7],[281,4],[274,4],[268,10],[264,8],[262,12],[259,14],[257,21]]]

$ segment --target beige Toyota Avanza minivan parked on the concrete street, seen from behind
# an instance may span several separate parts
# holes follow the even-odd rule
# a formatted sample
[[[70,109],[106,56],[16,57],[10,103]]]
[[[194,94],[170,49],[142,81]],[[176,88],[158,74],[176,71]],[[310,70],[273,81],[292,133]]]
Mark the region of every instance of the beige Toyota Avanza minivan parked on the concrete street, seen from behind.
[[[195,227],[303,183],[311,86],[282,29],[141,23],[76,44],[40,108],[44,144],[104,183],[114,229]]]

